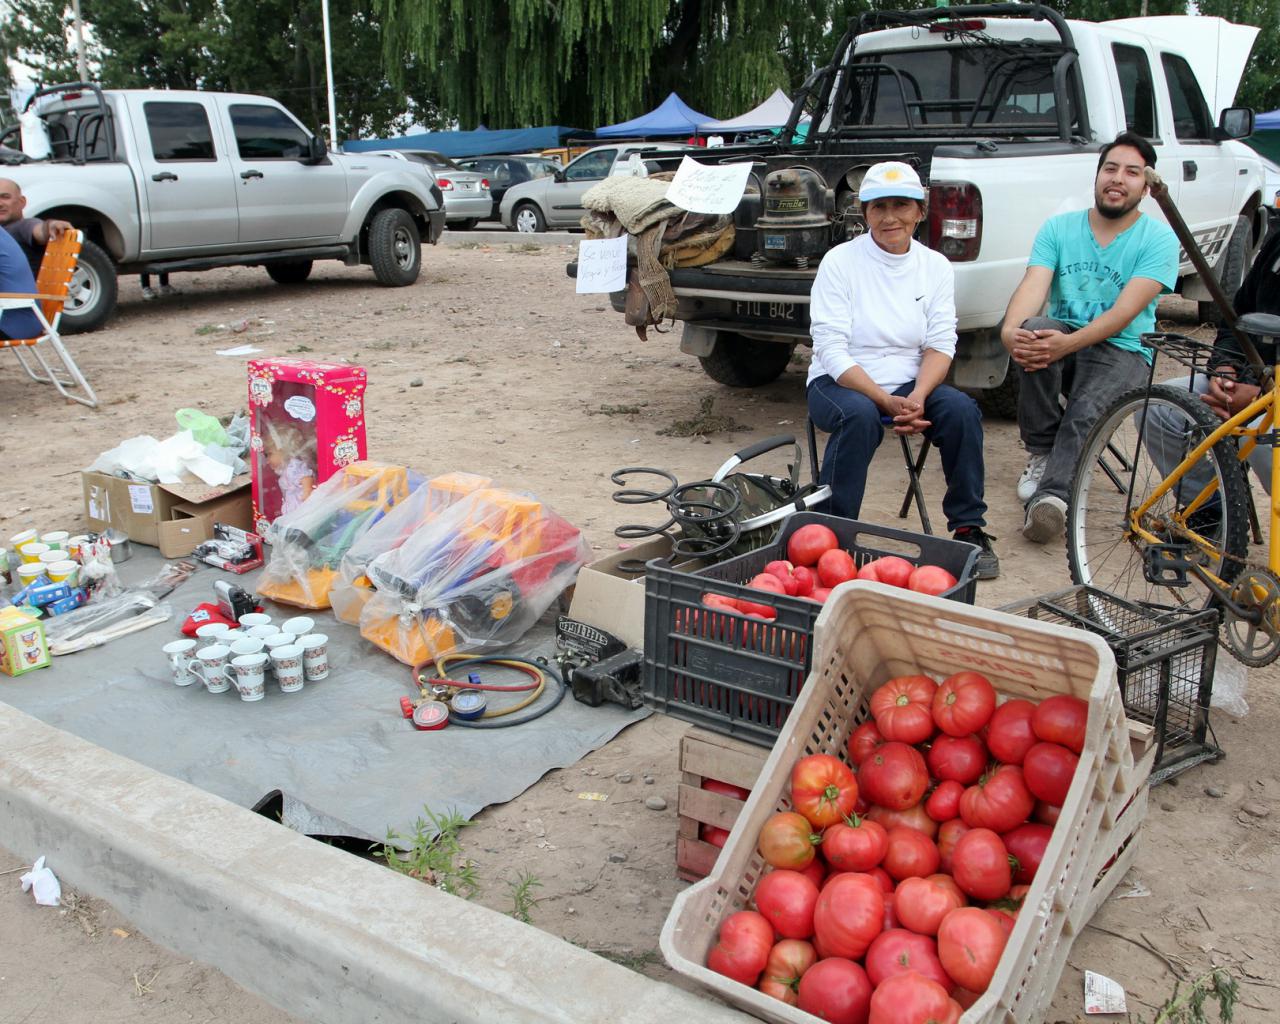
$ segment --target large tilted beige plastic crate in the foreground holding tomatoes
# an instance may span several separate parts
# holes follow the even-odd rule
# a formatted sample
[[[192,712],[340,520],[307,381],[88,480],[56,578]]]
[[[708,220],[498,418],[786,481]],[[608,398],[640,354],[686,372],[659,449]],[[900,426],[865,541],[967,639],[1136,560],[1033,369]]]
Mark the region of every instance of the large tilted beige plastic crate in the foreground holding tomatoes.
[[[846,758],[872,692],[896,676],[937,680],[974,669],[1007,698],[1071,694],[1089,703],[1084,751],[1053,837],[986,993],[961,1024],[1032,1024],[1053,998],[1075,936],[1115,888],[1147,813],[1149,731],[1130,737],[1115,658],[1098,637],[870,582],[840,586],[815,626],[813,672],[710,874],[676,897],[662,929],[671,966],[721,998],[777,1024],[817,1018],[705,966],[730,914],[748,906],[765,864],[760,827],[790,810],[791,765],[806,754]],[[1135,763],[1135,754],[1139,760]]]

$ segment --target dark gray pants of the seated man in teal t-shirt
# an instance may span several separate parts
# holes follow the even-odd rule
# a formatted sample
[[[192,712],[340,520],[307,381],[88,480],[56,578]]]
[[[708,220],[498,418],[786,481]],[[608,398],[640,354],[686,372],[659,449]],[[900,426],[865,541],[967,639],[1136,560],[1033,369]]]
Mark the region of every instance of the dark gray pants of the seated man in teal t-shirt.
[[[1023,329],[1061,330],[1064,334],[1075,330],[1047,316],[1028,317]],[[1032,502],[1046,494],[1065,502],[1075,463],[1093,424],[1116,398],[1130,388],[1146,384],[1151,367],[1137,352],[1100,342],[1051,362],[1043,370],[1028,372],[1021,366],[1016,369],[1018,430],[1023,444],[1030,454],[1048,456],[1039,490]],[[1065,408],[1059,396],[1066,396]]]

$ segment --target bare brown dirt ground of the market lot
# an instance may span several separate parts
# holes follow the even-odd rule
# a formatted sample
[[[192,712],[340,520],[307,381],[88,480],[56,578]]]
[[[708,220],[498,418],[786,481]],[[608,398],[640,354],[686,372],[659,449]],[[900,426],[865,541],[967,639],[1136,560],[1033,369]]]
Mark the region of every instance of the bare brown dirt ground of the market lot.
[[[378,288],[367,270],[337,264],[319,265],[297,287],[275,285],[261,270],[175,276],[182,294],[154,302],[125,283],[109,326],[73,340],[101,396],[100,410],[64,404],[19,379],[12,365],[0,374],[0,408],[12,424],[0,440],[0,461],[9,467],[0,475],[0,534],[27,524],[79,524],[79,468],[124,438],[168,435],[174,410],[224,413],[243,406],[243,360],[215,349],[246,342],[269,356],[366,366],[372,457],[431,474],[484,472],[527,489],[581,526],[600,556],[618,548],[613,529],[636,518],[636,509],[611,500],[614,468],[655,466],[682,481],[700,480],[750,440],[803,431],[804,352],[767,388],[723,388],[678,352],[676,335],[640,342],[604,297],[576,296],[563,269],[571,255],[571,247],[524,243],[433,248],[425,252],[422,278],[402,291]],[[1187,325],[1190,308],[1166,302],[1162,315]],[[704,402],[712,403],[709,411]],[[986,451],[989,530],[1000,539],[1004,572],[979,585],[978,603],[996,607],[1068,585],[1061,545],[1038,548],[1019,536],[1012,492],[1024,457],[1014,425],[988,422]],[[864,518],[896,524],[905,486],[896,448],[882,447],[872,476]],[[941,522],[936,462],[925,490]],[[1212,965],[1233,968],[1242,982],[1236,1021],[1274,1018],[1270,1007],[1280,989],[1276,680],[1274,668],[1252,672],[1249,714],[1215,716],[1225,760],[1153,791],[1142,852],[1119,887],[1126,899],[1112,899],[1078,938],[1051,1021],[1083,1019],[1087,968],[1119,980],[1130,1011],[1149,1019],[1178,978]],[[677,748],[685,730],[654,716],[479,815],[462,840],[476,861],[480,901],[509,911],[507,882],[529,872],[540,882],[530,911],[535,927],[652,977],[673,978],[657,947],[671,901],[684,887],[673,861]],[[634,781],[617,781],[623,772]],[[645,773],[654,785],[643,785]],[[609,800],[576,799],[582,790]],[[643,797],[654,794],[667,800],[666,810],[645,808]],[[0,860],[0,872],[10,867],[15,863]],[[15,878],[0,883],[6,901],[14,899],[9,883],[15,888]],[[113,913],[102,911],[110,927],[87,936],[58,911],[5,910],[0,974],[9,980],[0,982],[0,1023],[115,1019],[101,1012],[106,989],[120,1006],[154,1001],[160,983],[138,995],[133,974],[146,982],[148,965],[174,957],[152,950],[120,954],[120,942],[141,940],[114,936]],[[119,927],[132,932],[127,923]],[[29,948],[49,956],[31,957]],[[73,961],[74,970],[63,963],[58,970],[27,970],[42,959]],[[14,1004],[5,991],[17,991],[19,964],[27,1002]],[[186,961],[173,972],[165,968],[159,977],[169,1015],[134,1019],[284,1019],[248,1004],[230,1012],[236,1004],[209,995],[215,984],[228,986],[214,975]],[[69,980],[82,977],[97,979],[95,987]],[[40,1010],[55,1001],[55,1015]],[[31,1009],[14,1014],[15,1005]]]

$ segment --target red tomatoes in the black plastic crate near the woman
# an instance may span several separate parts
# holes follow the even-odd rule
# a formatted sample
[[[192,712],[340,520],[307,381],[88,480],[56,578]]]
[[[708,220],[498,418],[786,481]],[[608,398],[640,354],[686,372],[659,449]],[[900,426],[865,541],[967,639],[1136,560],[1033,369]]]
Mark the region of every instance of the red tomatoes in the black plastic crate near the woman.
[[[873,580],[920,594],[945,594],[956,585],[956,577],[941,566],[913,566],[897,556],[877,558],[859,568],[854,556],[840,547],[835,531],[820,522],[810,522],[796,530],[787,539],[787,558],[769,562],[746,585],[753,590],[806,598],[824,604],[832,589],[849,580]],[[753,618],[777,617],[772,605],[750,598],[703,594],[703,604]]]

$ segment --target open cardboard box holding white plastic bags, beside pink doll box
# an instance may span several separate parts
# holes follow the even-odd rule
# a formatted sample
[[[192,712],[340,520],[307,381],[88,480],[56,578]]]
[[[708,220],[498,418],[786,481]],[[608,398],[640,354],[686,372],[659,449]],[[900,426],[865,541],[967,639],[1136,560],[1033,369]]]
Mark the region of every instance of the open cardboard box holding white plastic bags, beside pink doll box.
[[[212,522],[218,518],[225,521],[227,513],[234,513],[236,502],[248,500],[248,492],[244,489],[250,484],[250,475],[241,474],[224,486],[210,486],[200,481],[148,484],[104,472],[82,472],[81,484],[84,492],[84,518],[90,530],[120,530],[138,544],[160,548],[166,558],[178,558],[189,554],[200,540],[207,540],[212,535]],[[174,529],[166,531],[165,543],[161,541],[160,527],[164,524],[204,517],[206,506],[224,498],[232,499],[232,507],[227,513],[209,520],[209,536],[196,540],[193,538],[198,534],[198,527],[192,534]]]

